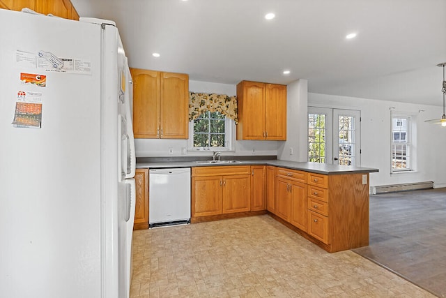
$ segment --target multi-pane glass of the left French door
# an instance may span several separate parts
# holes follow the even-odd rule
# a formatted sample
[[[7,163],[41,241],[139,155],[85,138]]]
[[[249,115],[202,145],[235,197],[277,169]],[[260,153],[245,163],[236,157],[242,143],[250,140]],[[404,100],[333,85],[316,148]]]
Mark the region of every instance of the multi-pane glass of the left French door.
[[[308,114],[308,161],[325,163],[325,114]]]

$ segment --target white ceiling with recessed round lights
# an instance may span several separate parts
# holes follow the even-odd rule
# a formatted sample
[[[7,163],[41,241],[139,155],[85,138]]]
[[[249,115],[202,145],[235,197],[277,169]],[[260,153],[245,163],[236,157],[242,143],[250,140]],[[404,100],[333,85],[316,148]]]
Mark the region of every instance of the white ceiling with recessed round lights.
[[[306,79],[314,93],[443,104],[446,0],[72,3],[81,17],[116,22],[130,67],[226,84]]]

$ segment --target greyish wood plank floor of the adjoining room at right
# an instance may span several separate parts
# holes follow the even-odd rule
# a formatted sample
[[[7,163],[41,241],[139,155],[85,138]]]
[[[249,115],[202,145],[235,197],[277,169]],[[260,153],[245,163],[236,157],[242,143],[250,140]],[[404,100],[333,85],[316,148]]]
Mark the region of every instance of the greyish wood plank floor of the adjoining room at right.
[[[371,195],[369,246],[354,251],[446,297],[446,188]]]

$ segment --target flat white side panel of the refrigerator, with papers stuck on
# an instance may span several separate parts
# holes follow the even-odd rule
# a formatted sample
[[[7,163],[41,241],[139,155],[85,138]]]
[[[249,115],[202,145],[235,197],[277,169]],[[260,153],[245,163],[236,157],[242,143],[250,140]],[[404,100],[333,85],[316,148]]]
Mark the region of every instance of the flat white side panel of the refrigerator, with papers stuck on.
[[[101,28],[0,9],[0,45],[0,297],[103,297],[102,170],[116,181],[117,158],[102,155]],[[40,105],[36,128],[12,124],[39,117],[22,100]]]

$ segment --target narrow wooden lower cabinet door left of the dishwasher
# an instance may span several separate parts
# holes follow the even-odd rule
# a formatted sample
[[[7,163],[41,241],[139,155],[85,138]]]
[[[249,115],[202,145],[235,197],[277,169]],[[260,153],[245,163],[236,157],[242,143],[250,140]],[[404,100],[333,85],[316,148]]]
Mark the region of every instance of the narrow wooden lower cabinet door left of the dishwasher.
[[[148,169],[137,169],[134,174],[136,200],[134,230],[148,229]]]

